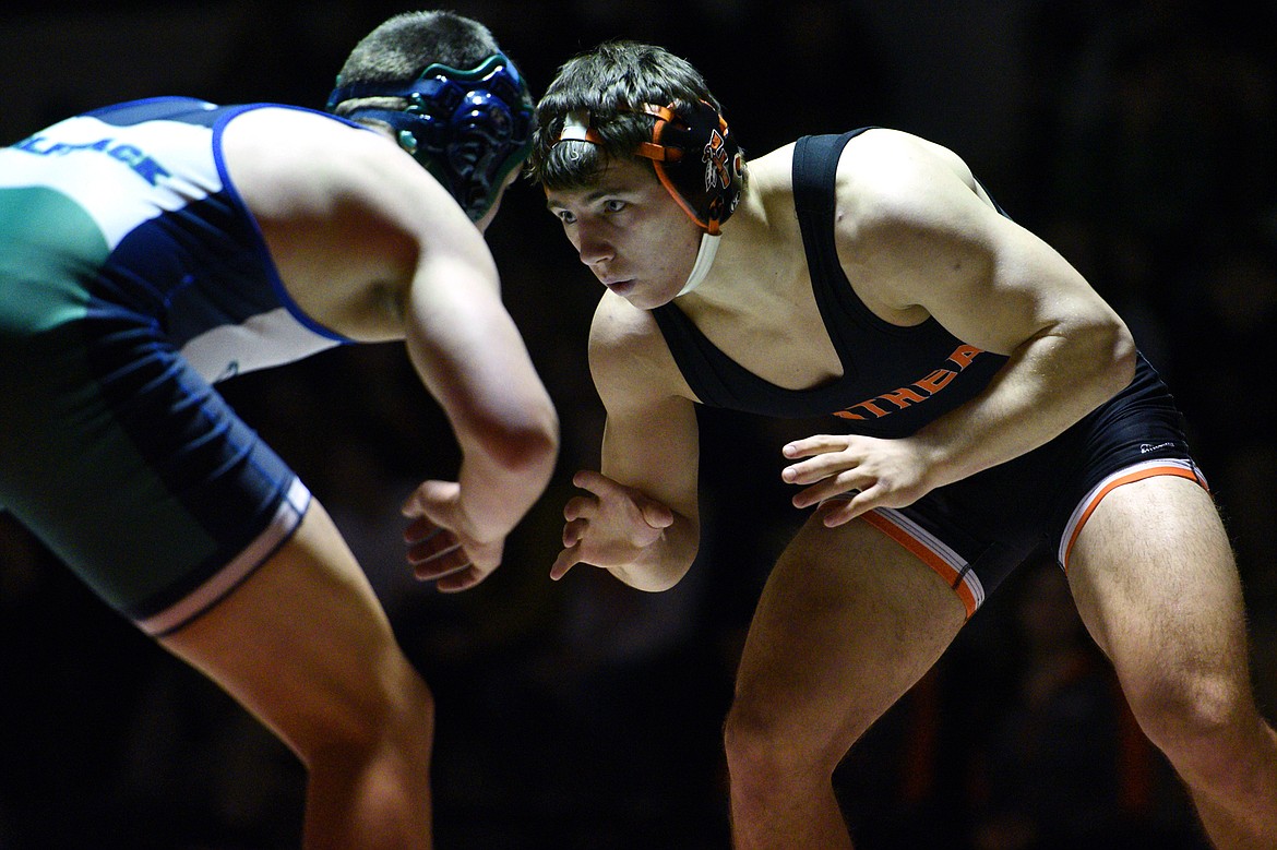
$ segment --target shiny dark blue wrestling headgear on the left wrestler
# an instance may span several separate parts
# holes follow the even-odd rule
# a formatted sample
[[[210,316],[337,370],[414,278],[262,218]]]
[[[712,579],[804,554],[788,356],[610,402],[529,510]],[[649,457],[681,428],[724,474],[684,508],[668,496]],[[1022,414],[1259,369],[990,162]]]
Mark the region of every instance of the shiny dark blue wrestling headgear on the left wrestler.
[[[400,147],[452,193],[471,221],[492,208],[531,149],[533,97],[499,52],[470,70],[430,65],[411,83],[342,86],[338,79],[327,108],[365,97],[407,98],[402,110],[355,108],[344,117],[389,124]]]

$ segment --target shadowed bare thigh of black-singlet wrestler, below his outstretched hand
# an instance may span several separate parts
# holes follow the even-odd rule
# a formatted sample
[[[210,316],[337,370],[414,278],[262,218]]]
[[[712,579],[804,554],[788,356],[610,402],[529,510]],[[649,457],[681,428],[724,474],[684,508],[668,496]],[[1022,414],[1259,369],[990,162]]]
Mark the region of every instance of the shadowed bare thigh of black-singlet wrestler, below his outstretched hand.
[[[881,531],[862,519],[826,528],[813,517],[762,591],[736,710],[787,736],[815,736],[808,743],[838,758],[964,622],[944,579]]]

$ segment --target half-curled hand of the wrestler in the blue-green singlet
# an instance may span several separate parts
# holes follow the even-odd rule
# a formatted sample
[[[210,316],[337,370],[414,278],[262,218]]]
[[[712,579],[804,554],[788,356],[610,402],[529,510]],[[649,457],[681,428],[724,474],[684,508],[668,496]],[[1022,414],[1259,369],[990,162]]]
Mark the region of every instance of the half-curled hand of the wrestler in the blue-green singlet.
[[[466,533],[461,485],[427,481],[404,503],[407,562],[421,581],[444,592],[474,587],[501,564],[504,539],[480,541]]]

